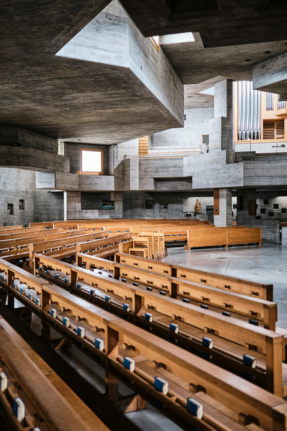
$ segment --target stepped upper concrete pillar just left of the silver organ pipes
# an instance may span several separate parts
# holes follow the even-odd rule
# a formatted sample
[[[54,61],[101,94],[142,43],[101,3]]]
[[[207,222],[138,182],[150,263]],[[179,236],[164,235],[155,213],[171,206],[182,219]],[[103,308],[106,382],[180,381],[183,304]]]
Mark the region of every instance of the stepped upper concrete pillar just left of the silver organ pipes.
[[[233,150],[232,81],[214,85],[214,119],[209,120],[209,150]]]

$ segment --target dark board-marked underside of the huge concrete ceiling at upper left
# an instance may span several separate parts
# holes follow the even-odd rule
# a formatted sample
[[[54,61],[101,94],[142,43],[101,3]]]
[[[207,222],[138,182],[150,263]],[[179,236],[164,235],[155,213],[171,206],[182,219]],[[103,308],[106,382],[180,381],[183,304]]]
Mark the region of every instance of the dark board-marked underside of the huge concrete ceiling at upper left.
[[[107,145],[180,126],[129,68],[55,55],[108,3],[0,3],[0,125]]]

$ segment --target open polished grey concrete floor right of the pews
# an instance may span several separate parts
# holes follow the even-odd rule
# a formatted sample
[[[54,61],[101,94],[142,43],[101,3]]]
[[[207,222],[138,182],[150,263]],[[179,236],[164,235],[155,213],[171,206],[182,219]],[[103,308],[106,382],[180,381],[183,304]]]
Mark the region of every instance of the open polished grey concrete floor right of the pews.
[[[277,325],[287,329],[286,247],[263,242],[261,247],[247,245],[191,251],[170,247],[167,252],[165,262],[273,284],[273,300],[278,304]]]

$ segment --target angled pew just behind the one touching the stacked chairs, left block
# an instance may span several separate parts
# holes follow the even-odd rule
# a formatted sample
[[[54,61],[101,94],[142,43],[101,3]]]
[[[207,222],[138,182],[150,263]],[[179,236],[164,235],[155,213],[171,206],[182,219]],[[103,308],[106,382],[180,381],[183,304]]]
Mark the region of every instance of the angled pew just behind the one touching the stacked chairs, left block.
[[[33,270],[34,253],[43,253],[46,250],[47,256],[54,256],[56,259],[64,259],[76,255],[77,245],[80,242],[83,244],[91,244],[96,238],[104,238],[107,236],[106,231],[85,233],[85,230],[66,231],[64,237],[29,244],[29,269]]]

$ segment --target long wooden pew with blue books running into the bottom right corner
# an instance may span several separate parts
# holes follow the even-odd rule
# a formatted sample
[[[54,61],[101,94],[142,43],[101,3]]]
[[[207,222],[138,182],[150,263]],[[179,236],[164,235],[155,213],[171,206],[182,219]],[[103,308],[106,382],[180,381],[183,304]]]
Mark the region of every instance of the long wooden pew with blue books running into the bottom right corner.
[[[17,267],[11,265],[9,272],[14,269]],[[169,342],[57,286],[44,284],[46,280],[39,281],[43,282],[41,307],[37,306],[42,318],[42,337],[49,340],[51,326],[100,361],[106,370],[111,401],[118,399],[119,378],[149,402],[154,403],[155,399],[163,403],[167,409],[162,412],[167,415],[173,412],[175,422],[188,422],[198,430],[243,431],[242,424],[254,424],[253,429],[257,425],[265,431],[287,430],[287,403],[282,398],[212,363],[207,367],[204,359],[175,345],[171,349]],[[22,302],[25,298],[22,297]],[[51,309],[56,309],[56,318],[52,317]],[[68,326],[63,324],[64,316],[70,319]],[[84,333],[82,329],[78,331],[78,326]],[[95,338],[102,340],[104,350],[95,346]],[[124,356],[135,359],[134,372],[123,366]],[[154,388],[156,376],[169,383],[167,395]],[[188,397],[203,404],[202,419],[187,411]]]

